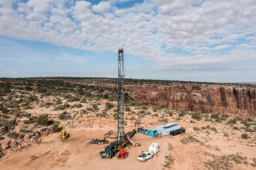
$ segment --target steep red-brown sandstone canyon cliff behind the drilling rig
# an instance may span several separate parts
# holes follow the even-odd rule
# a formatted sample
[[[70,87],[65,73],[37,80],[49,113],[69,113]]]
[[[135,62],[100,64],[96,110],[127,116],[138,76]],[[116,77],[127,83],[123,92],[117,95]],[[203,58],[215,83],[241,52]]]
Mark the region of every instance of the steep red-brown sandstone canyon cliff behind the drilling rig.
[[[99,87],[116,88],[113,85]],[[256,116],[256,88],[209,84],[125,85],[129,97],[178,110]]]

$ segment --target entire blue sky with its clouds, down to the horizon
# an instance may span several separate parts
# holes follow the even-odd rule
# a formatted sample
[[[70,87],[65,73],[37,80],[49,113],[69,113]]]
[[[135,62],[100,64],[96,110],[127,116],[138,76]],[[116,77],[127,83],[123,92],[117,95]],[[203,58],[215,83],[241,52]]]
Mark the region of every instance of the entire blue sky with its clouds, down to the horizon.
[[[0,77],[256,82],[256,2],[3,0]]]

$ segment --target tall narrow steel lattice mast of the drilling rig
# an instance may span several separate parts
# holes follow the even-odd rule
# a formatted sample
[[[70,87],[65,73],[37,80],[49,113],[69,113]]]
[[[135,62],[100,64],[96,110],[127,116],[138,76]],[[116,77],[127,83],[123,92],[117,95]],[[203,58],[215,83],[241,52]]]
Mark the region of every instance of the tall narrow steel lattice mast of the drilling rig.
[[[117,90],[117,141],[123,141],[123,107],[124,107],[124,91],[123,91],[123,49],[118,50],[118,90]]]

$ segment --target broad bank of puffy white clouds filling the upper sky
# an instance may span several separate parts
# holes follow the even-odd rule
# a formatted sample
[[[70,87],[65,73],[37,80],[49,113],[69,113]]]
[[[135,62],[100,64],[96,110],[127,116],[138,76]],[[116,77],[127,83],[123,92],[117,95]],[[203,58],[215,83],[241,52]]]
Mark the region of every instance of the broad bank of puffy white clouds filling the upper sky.
[[[255,1],[152,0],[112,7],[117,2],[126,0],[3,0],[0,34],[85,50],[123,47],[166,70],[231,69],[255,61]]]

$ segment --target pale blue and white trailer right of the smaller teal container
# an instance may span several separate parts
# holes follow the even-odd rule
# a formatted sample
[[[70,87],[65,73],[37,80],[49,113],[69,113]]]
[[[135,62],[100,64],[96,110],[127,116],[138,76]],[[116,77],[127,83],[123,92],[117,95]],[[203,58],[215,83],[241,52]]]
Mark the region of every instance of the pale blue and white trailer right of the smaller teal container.
[[[181,128],[179,124],[176,124],[175,122],[171,122],[168,124],[157,126],[157,132],[158,134],[162,134],[162,135],[174,136],[177,134],[184,134],[185,128]]]

